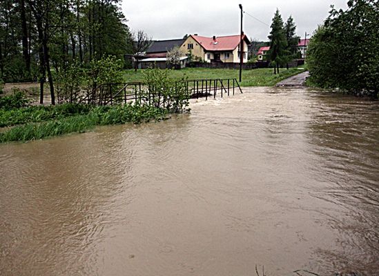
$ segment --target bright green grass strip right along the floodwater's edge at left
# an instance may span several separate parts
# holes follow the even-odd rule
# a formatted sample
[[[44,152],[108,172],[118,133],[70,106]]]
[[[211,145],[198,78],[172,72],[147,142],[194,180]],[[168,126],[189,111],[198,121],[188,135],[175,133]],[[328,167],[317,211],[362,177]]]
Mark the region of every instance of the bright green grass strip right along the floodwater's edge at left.
[[[52,108],[59,109],[62,106]],[[83,109],[80,110],[83,111]],[[86,114],[75,113],[72,115],[70,113],[68,117],[64,117],[60,113],[60,117],[54,119],[47,119],[46,117],[45,121],[27,121],[26,124],[0,132],[0,142],[31,141],[72,132],[86,132],[101,125],[126,124],[128,122],[140,124],[150,120],[159,121],[165,119],[166,115],[166,110],[152,106],[128,104],[126,106],[92,107]]]

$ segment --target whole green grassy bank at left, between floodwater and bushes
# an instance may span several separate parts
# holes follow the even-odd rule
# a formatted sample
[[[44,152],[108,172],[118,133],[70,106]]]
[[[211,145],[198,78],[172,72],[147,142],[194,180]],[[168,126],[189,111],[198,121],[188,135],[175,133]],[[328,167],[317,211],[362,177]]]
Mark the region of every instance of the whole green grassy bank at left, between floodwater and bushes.
[[[22,121],[23,124],[0,132],[0,142],[30,141],[71,132],[86,132],[95,126],[109,124],[126,124],[128,122],[139,124],[150,120],[158,121],[164,119],[167,114],[167,111],[162,108],[131,104],[98,107],[76,105],[77,109],[72,106],[74,105],[24,108],[21,114],[30,116],[23,117],[23,120],[20,119],[19,122]],[[67,110],[72,112],[68,113]],[[39,116],[39,114],[42,115]]]

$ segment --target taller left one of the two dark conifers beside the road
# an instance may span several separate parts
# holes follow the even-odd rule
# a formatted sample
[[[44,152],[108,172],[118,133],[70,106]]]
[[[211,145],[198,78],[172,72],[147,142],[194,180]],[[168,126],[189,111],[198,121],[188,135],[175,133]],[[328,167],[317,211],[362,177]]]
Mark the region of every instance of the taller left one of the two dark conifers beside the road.
[[[286,34],[284,32],[283,20],[277,9],[271,23],[271,32],[269,35],[270,39],[270,50],[269,50],[269,60],[273,63],[274,74],[277,70],[279,73],[279,67],[285,63],[285,50],[287,46]]]

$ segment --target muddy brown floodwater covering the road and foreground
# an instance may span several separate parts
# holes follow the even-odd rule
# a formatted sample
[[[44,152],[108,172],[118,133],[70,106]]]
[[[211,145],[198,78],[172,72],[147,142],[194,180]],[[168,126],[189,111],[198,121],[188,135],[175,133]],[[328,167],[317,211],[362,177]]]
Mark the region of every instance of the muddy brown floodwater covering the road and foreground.
[[[191,108],[0,145],[0,275],[378,275],[378,103],[249,88]]]

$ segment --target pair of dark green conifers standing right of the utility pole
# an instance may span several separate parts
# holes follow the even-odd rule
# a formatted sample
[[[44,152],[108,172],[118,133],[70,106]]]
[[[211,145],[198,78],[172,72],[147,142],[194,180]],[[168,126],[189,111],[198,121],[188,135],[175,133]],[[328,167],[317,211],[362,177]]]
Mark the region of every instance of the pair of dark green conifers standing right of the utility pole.
[[[274,68],[274,74],[279,73],[280,66],[289,68],[289,62],[299,57],[298,41],[296,36],[296,25],[290,16],[286,23],[283,22],[282,15],[277,9],[271,23],[269,34],[270,50],[267,60]]]

